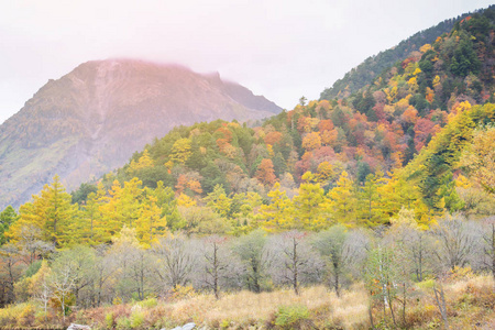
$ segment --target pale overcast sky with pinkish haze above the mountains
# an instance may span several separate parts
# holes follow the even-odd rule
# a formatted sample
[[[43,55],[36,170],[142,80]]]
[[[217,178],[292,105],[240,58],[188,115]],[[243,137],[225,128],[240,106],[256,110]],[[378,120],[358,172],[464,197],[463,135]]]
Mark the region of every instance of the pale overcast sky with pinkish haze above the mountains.
[[[80,63],[219,72],[292,109],[366,57],[485,0],[1,0],[0,123]]]

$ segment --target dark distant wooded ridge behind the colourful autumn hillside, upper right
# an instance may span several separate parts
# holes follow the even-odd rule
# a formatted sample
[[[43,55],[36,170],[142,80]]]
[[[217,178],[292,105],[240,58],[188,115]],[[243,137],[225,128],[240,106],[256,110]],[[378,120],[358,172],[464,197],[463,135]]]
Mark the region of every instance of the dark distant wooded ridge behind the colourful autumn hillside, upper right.
[[[331,100],[349,97],[364,86],[370,85],[377,75],[384,69],[392,67],[397,61],[404,61],[411,52],[419,51],[419,47],[424,44],[433,43],[438,36],[449,33],[457,22],[469,15],[470,13],[464,13],[455,19],[444,20],[435,26],[417,32],[389,50],[366,58],[358,67],[346,73],[343,78],[333,82],[332,87],[324,89],[320,95],[320,99]]]

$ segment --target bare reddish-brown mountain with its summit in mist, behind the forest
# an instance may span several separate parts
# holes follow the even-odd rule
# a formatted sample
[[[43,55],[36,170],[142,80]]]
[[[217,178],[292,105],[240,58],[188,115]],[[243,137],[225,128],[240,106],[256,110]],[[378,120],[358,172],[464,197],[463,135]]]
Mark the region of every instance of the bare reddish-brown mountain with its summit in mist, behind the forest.
[[[174,127],[280,110],[218,74],[131,59],[81,64],[0,127],[0,209],[26,201],[55,174],[69,189],[98,177]]]

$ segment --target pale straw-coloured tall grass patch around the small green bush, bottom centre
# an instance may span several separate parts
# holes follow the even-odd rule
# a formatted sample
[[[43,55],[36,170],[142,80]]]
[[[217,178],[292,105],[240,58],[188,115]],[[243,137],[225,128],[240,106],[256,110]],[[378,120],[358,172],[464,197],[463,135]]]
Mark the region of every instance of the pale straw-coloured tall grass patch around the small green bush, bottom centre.
[[[300,295],[290,289],[254,294],[240,292],[224,294],[219,300],[212,295],[173,304],[170,317],[179,322],[195,321],[208,326],[231,327],[263,323],[277,311],[279,306],[302,305],[312,312],[317,321],[343,324],[354,329],[367,322],[367,307],[364,290],[344,292],[341,298],[323,286],[304,288]]]

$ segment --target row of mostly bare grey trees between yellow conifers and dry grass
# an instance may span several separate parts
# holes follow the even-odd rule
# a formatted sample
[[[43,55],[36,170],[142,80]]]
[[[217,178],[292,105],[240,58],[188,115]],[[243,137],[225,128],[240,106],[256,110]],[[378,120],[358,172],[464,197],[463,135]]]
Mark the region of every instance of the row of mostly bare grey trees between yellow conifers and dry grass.
[[[151,245],[141,244],[138,231],[124,227],[112,244],[94,248],[42,250],[40,242],[3,246],[2,301],[31,301],[35,310],[25,314],[46,322],[81,308],[150,297],[202,292],[219,298],[224,292],[279,287],[298,294],[317,284],[340,295],[363,282],[372,306],[389,306],[398,319],[415,295],[414,283],[466,272],[495,275],[494,235],[493,217],[484,222],[446,217],[425,231],[407,210],[392,227],[373,231],[333,226],[318,233],[176,233]],[[38,249],[34,258],[33,249]]]

